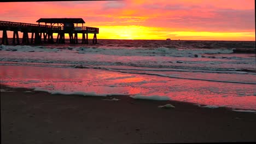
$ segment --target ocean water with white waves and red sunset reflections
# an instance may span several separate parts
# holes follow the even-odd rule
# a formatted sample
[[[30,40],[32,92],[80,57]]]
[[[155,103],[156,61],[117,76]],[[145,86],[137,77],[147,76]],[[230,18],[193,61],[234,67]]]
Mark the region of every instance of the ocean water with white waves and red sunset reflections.
[[[66,44],[0,45],[0,78],[3,85],[52,94],[256,110],[255,41],[99,39],[96,45],[74,45],[66,39]]]

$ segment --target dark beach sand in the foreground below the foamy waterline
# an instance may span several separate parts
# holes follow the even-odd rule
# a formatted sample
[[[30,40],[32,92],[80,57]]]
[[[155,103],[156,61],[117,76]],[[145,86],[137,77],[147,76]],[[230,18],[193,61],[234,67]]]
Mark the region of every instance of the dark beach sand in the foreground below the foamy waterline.
[[[256,114],[178,101],[82,97],[1,85],[2,143],[256,141]],[[25,92],[32,91],[32,92]],[[172,104],[175,108],[161,109]]]

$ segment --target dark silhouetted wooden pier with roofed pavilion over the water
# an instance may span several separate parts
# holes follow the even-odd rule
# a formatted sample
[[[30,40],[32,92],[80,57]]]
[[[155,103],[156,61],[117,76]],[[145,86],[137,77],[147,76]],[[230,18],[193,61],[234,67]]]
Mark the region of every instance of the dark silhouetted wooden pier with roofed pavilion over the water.
[[[7,31],[13,31],[13,44],[20,45],[19,34],[22,32],[21,44],[53,44],[53,34],[57,33],[57,44],[65,44],[65,33],[69,35],[69,41],[71,44],[78,44],[78,33],[82,34],[82,44],[88,44],[88,34],[94,34],[92,44],[97,44],[97,35],[99,28],[96,27],[84,27],[85,21],[81,18],[51,18],[51,19],[39,19],[38,24],[22,23],[22,22],[10,22],[0,21],[0,31],[3,31],[2,44],[8,45]],[[45,25],[40,25],[44,23]],[[78,27],[78,24],[82,23],[82,27]],[[76,24],[76,27],[74,26]],[[57,26],[56,26],[57,25]],[[31,38],[28,37],[28,33],[31,33]]]

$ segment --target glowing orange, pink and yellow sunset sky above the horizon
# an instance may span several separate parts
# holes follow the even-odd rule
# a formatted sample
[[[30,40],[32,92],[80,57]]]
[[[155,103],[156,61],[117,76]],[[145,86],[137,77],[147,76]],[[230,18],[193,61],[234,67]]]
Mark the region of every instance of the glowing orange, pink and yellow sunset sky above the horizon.
[[[0,4],[0,20],[82,18],[85,26],[100,28],[98,39],[255,41],[254,5],[254,0],[7,2]]]

